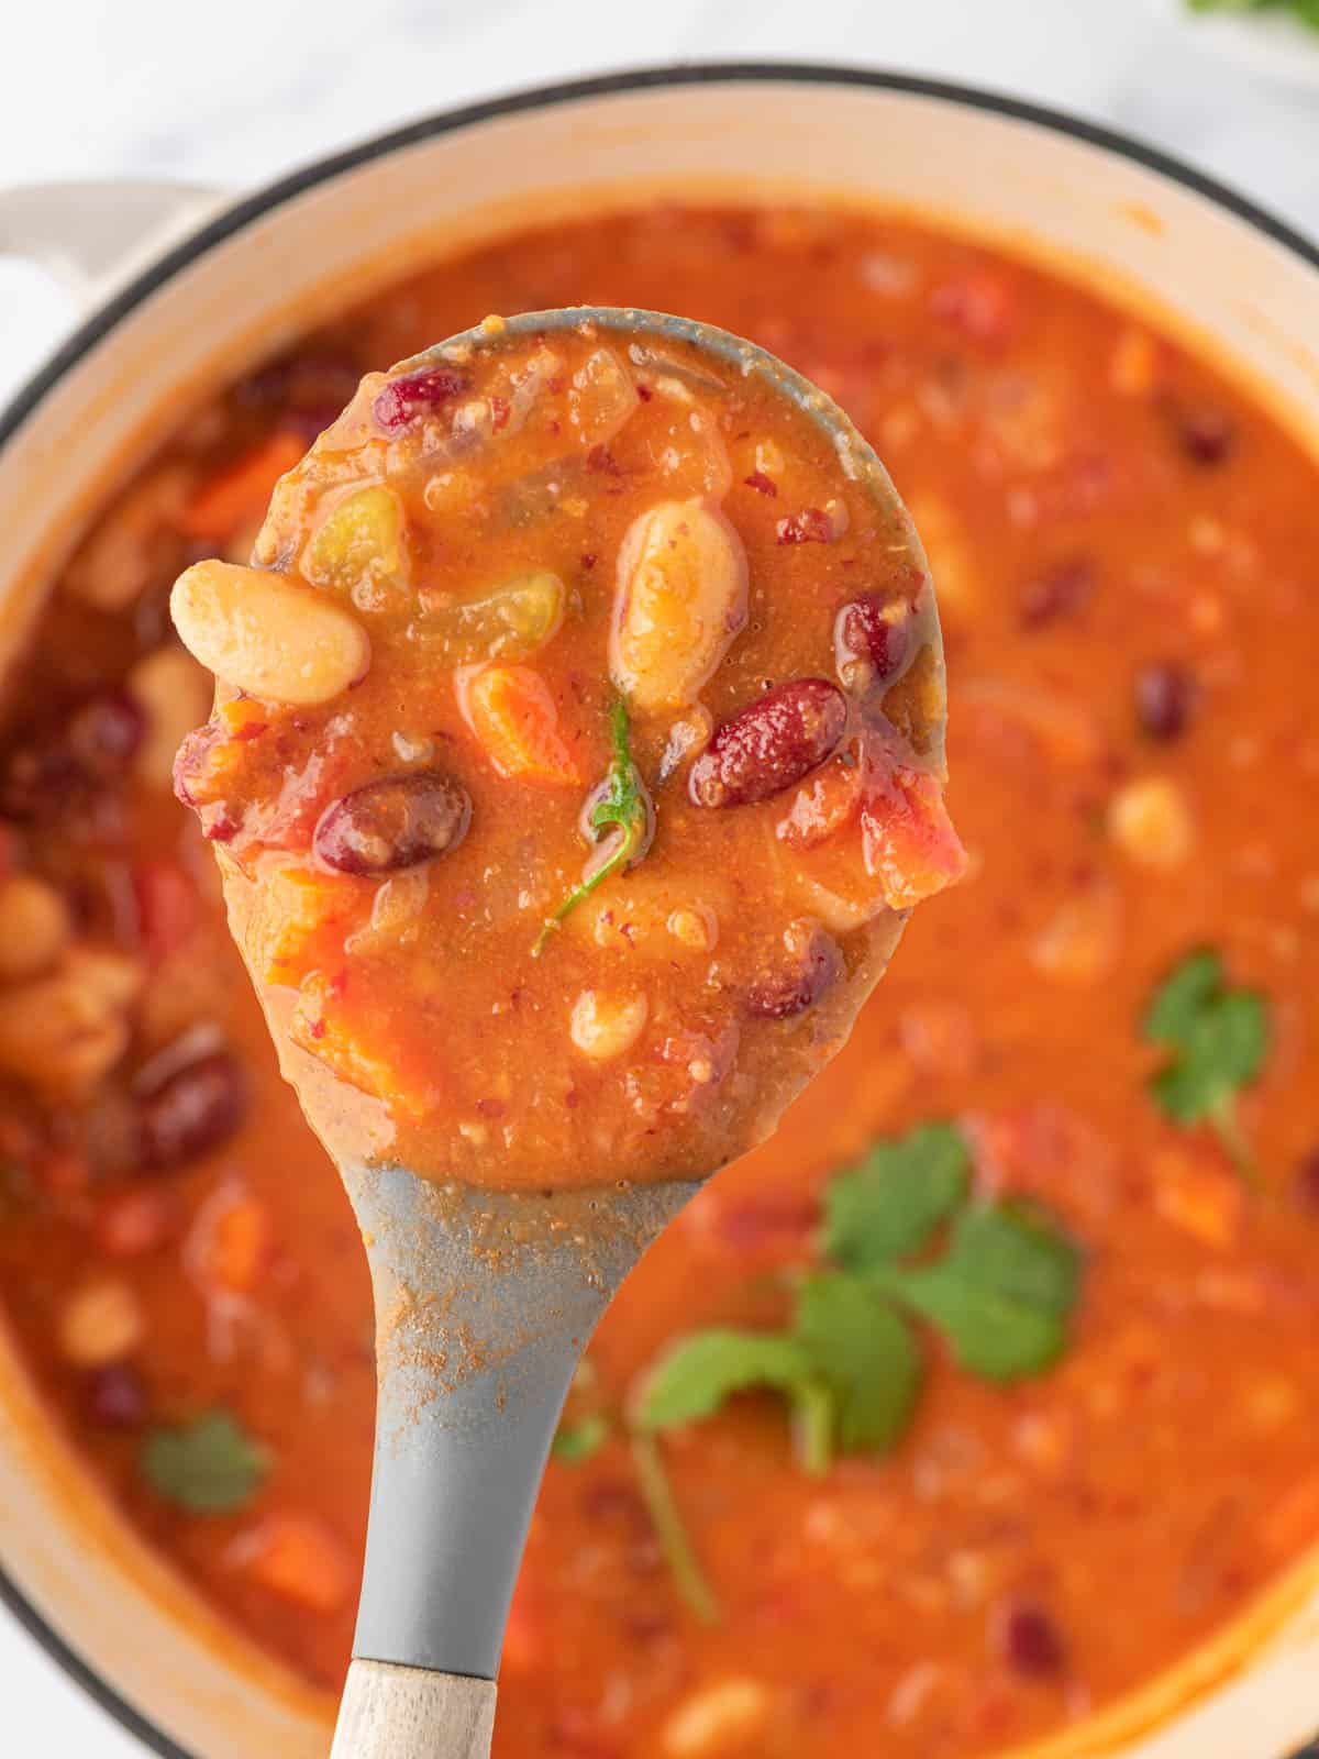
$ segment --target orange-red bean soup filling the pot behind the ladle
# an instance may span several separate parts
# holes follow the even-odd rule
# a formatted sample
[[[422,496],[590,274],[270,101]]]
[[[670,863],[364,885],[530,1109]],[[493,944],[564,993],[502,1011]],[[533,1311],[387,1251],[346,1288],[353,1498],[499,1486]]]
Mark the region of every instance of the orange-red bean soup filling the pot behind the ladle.
[[[624,1444],[554,1462],[496,1750],[651,1759],[675,1750],[672,1719],[693,1694],[730,1683],[723,1745],[705,1750],[1009,1748],[1185,1657],[1319,1537],[1319,1203],[1307,1173],[1319,1129],[1305,1098],[1319,1091],[1319,862],[1296,813],[1319,776],[1303,711],[1314,464],[1175,343],[1020,262],[906,223],[667,209],[440,266],[308,345],[302,364],[239,387],[208,443],[181,442],[164,470],[200,485],[313,410],[320,385],[332,413],[345,375],[369,361],[487,310],[577,299],[684,310],[763,341],[876,442],[939,584],[951,804],[974,858],[960,888],[918,913],[849,1047],[776,1140],[721,1173],[628,1282],[591,1351],[598,1400],[624,1404],[681,1330],[772,1319],[781,1296],[767,1277],[811,1258],[823,1180],[911,1122],[962,1119],[980,1186],[1046,1200],[1089,1268],[1071,1347],[1046,1377],[992,1388],[925,1340],[929,1386],[883,1460],[807,1479],[781,1412],[756,1397],[665,1439],[723,1602],[714,1629],[693,1622],[661,1567]],[[127,580],[146,588],[146,609],[79,603],[74,589],[86,598],[88,577],[106,577],[83,552],[47,614],[37,675],[21,681],[9,749],[56,684],[116,679],[160,640],[149,607],[190,558],[169,512],[176,491],[153,471],[139,494],[155,514],[128,545],[132,561],[146,552],[144,579]],[[250,542],[236,535],[239,552]],[[1154,697],[1182,707],[1150,714],[1138,679],[1168,667],[1191,688],[1161,686]],[[1154,813],[1115,809],[1148,777],[1168,785]],[[197,982],[192,1017],[243,1047],[246,1124],[185,1168],[107,1173],[113,1157],[88,1154],[77,1108],[51,1119],[14,1084],[5,1159],[21,1177],[7,1180],[0,1288],[53,1409],[128,1516],[259,1641],[334,1685],[350,1606],[308,1611],[244,1569],[236,1539],[294,1514],[350,1555],[361,1546],[371,1370],[359,1244],[274,1077],[209,864],[165,804],[164,776],[151,790],[102,785],[93,800],[40,834],[19,827],[7,860],[81,892],[79,922],[134,952],[128,872],[144,858],[179,865],[197,918],[188,952],[169,957]],[[1263,1196],[1208,1131],[1177,1128],[1145,1089],[1159,1054],[1140,1018],[1198,945],[1270,999],[1270,1055],[1238,1103]],[[176,989],[148,978],[146,996],[179,1001]],[[232,1179],[266,1205],[274,1256],[257,1323],[225,1358],[179,1237],[111,1263],[97,1217],[111,1193],[146,1189],[167,1193],[186,1228]],[[60,1333],[70,1295],[107,1274],[142,1307],[128,1361],[148,1414],[223,1404],[271,1448],[241,1511],[169,1507],[139,1479],[139,1432],[97,1420]],[[269,1347],[271,1330],[287,1351]],[[334,1580],[311,1574],[317,1595]],[[1052,1650],[1031,1611],[1055,1632]]]

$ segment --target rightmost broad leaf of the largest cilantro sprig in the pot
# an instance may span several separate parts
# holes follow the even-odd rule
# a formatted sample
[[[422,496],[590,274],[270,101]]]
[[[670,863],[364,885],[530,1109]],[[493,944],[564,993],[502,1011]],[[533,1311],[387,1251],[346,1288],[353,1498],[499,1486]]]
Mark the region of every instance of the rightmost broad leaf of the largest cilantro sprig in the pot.
[[[1075,1244],[1043,1210],[999,1201],[964,1210],[936,1263],[883,1266],[874,1281],[943,1332],[964,1369],[1018,1381],[1062,1354],[1080,1268]]]

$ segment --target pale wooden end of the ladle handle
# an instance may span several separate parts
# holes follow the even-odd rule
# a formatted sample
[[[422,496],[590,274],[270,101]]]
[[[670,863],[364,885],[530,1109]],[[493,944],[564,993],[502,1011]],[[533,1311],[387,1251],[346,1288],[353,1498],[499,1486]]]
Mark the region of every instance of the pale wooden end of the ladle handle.
[[[355,1660],[331,1759],[489,1759],[494,1682]]]

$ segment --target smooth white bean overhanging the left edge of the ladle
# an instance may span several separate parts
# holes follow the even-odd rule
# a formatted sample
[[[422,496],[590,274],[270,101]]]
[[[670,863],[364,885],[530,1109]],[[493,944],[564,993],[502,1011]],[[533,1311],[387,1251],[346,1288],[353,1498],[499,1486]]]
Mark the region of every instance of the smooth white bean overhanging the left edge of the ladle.
[[[188,653],[264,702],[331,702],[371,665],[362,624],[281,573],[199,561],[174,582],[169,609]]]

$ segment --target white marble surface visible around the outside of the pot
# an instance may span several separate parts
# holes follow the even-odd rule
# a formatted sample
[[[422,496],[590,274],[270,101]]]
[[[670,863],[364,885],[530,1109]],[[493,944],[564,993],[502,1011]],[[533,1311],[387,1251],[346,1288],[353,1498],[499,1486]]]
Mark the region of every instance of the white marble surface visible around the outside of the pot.
[[[172,176],[237,188],[519,84],[640,62],[797,58],[962,79],[1113,123],[1319,236],[1319,47],[1284,39],[1261,70],[1249,44],[1240,55],[1231,32],[1191,21],[1180,0],[9,0],[4,11],[0,185]],[[40,273],[0,259],[0,398],[70,315]],[[142,1755],[2,1613],[0,1697],[4,1755]]]

